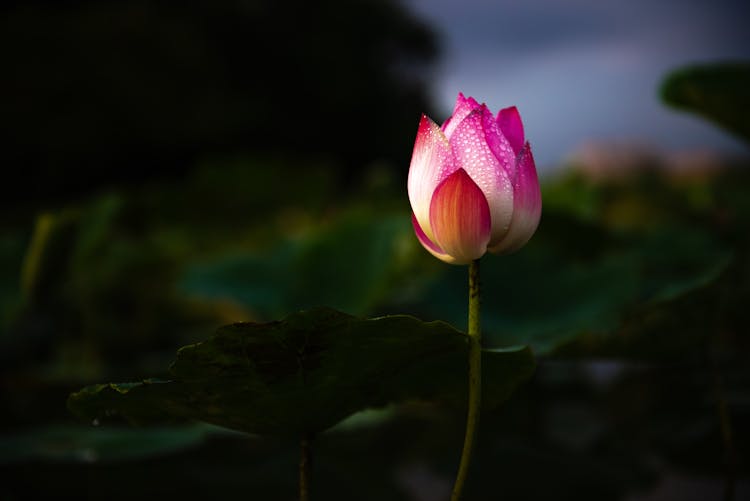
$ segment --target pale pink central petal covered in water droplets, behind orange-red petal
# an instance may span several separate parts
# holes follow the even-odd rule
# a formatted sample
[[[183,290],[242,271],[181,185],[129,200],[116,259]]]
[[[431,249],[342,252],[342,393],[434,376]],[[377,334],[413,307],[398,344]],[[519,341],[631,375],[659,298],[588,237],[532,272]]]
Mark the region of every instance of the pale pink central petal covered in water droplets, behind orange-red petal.
[[[513,216],[513,185],[508,174],[512,165],[503,165],[490,149],[483,126],[487,115],[492,117],[486,106],[469,113],[451,136],[450,144],[456,166],[469,174],[487,198],[492,221],[490,245],[494,245],[507,233]]]

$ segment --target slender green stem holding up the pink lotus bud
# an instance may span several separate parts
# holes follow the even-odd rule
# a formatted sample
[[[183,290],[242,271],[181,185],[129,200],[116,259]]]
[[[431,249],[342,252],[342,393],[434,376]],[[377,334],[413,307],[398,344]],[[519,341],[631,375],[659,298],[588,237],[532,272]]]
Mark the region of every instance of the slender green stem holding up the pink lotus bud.
[[[463,495],[479,427],[479,411],[482,405],[482,329],[479,321],[479,303],[479,260],[477,259],[469,265],[469,412],[466,418],[464,450],[461,453],[461,464],[458,466],[451,501],[459,501]]]

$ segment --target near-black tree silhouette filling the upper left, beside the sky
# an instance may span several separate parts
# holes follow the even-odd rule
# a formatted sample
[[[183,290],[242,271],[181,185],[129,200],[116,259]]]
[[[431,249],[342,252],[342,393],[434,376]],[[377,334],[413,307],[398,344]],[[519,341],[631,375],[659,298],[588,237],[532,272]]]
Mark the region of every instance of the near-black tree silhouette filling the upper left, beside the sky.
[[[431,30],[394,0],[6,3],[3,205],[282,151],[406,169]]]

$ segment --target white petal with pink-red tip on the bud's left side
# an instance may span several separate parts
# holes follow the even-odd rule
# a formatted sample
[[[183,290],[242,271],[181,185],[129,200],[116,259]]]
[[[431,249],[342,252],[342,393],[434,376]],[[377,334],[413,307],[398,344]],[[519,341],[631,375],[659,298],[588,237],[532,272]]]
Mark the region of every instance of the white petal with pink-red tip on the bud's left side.
[[[448,139],[440,127],[422,115],[409,166],[407,189],[412,211],[429,239],[433,238],[430,229],[432,194],[440,181],[456,170],[455,163]]]

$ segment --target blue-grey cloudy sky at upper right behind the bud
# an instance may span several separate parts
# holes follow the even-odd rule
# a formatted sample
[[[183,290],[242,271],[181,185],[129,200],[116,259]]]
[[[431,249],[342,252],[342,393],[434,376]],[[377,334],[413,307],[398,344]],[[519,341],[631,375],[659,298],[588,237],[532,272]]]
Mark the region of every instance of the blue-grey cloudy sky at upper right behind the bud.
[[[670,70],[750,59],[750,2],[736,0],[404,0],[443,55],[432,92],[516,105],[540,170],[591,144],[681,154],[748,154],[722,130],[658,100]]]

